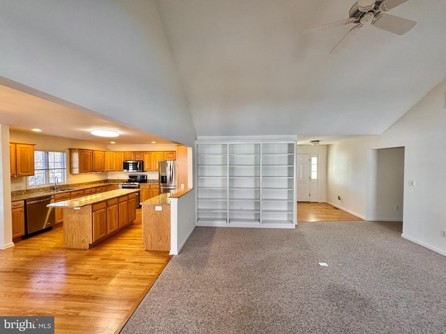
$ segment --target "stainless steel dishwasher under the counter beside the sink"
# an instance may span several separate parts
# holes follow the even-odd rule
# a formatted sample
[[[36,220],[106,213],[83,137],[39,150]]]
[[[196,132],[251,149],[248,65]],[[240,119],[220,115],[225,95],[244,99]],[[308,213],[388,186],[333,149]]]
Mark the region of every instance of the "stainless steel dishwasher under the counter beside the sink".
[[[26,224],[25,236],[34,234],[42,230],[47,230],[54,226],[56,219],[54,207],[47,207],[47,204],[54,202],[54,196],[41,196],[26,200]]]

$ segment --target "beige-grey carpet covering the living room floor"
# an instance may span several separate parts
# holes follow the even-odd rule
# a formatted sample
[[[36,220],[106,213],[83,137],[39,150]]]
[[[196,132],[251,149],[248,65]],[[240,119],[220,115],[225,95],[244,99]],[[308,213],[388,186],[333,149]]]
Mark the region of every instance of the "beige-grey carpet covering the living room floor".
[[[121,333],[446,333],[445,278],[401,223],[196,228]]]

